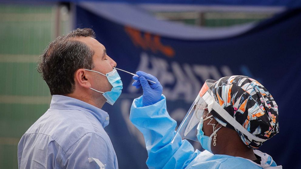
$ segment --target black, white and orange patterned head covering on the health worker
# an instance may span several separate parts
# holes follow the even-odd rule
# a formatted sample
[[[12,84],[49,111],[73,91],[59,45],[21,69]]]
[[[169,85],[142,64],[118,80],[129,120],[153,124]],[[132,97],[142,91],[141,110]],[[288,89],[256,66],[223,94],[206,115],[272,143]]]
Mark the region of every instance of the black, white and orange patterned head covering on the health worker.
[[[247,131],[262,139],[272,138],[279,132],[278,106],[272,95],[258,81],[246,76],[228,76],[211,87],[211,96]],[[262,142],[249,139],[220,117],[211,114],[225,127],[236,130],[250,148],[259,148]]]

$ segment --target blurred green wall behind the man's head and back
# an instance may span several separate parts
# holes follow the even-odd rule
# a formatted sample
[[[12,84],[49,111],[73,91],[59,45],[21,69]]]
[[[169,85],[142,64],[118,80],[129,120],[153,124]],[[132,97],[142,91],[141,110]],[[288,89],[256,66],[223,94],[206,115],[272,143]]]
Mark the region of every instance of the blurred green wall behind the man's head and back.
[[[66,7],[0,4],[0,168],[18,168],[21,136],[49,108],[51,95],[36,61],[69,30]]]

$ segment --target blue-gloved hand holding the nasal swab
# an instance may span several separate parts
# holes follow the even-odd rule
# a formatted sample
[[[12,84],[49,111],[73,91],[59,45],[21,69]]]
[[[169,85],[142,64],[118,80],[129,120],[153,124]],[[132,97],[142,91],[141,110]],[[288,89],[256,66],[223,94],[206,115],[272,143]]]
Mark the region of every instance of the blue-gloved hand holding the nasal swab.
[[[147,74],[143,71],[137,71],[136,74],[139,77],[133,76],[133,79],[135,81],[132,85],[135,86],[136,88],[140,88],[140,86],[142,86],[143,89],[142,105],[148,106],[160,101],[163,87],[158,81],[158,79],[153,75]],[[154,84],[153,82],[147,81],[147,79],[154,81],[156,83]]]

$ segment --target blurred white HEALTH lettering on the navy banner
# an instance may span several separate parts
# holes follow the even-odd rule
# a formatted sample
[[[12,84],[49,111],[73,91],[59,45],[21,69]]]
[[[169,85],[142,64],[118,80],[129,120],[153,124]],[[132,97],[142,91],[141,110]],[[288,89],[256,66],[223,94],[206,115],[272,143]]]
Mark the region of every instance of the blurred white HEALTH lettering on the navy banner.
[[[168,100],[183,99],[188,103],[194,101],[205,80],[218,80],[224,76],[233,75],[231,69],[225,65],[218,69],[214,65],[196,65],[175,61],[168,63],[163,58],[149,56],[146,53],[140,55],[137,71],[139,70],[158,78],[163,86],[163,94]],[[131,84],[127,89],[129,93],[136,93],[138,90]]]

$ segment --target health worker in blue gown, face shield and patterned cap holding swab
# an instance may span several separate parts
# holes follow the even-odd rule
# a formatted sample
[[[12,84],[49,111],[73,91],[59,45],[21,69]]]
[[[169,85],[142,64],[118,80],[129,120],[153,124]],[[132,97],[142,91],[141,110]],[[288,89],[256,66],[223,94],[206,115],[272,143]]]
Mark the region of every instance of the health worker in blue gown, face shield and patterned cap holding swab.
[[[133,86],[142,87],[143,95],[133,101],[130,121],[144,135],[149,168],[282,168],[257,150],[279,132],[278,106],[258,81],[246,76],[206,80],[175,131],[157,78],[137,75]],[[205,151],[194,150],[186,139],[199,141]]]

